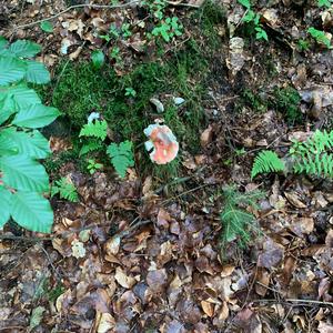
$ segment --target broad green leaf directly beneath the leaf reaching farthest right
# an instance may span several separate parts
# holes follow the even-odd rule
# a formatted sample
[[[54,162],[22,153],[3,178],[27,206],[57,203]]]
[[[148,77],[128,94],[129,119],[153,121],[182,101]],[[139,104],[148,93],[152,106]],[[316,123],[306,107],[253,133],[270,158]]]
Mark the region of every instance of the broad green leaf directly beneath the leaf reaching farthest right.
[[[27,133],[9,128],[0,132],[0,142],[2,138],[7,142],[13,142],[19,153],[33,159],[44,159],[51,152],[48,140],[37,130]]]

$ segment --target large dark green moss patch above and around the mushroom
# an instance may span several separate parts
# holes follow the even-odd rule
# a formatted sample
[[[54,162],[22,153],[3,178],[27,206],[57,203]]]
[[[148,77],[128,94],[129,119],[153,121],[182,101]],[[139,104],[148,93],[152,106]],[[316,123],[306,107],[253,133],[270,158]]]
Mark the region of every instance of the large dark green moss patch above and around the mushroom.
[[[56,70],[56,79],[39,92],[46,102],[68,117],[73,138],[78,138],[79,130],[91,112],[100,112],[107,120],[114,141],[131,140],[135,151],[143,155],[143,129],[153,123],[155,118],[164,118],[181,148],[192,153],[198,152],[198,133],[206,125],[202,100],[206,93],[209,63],[212,50],[218,50],[221,46],[216,24],[224,21],[223,11],[216,4],[206,2],[191,19],[191,24],[198,27],[198,37],[184,42],[182,50],[164,52],[158,61],[138,63],[132,72],[123,77],[117,75],[112,64],[108,62],[100,70],[95,70],[87,61],[62,62]],[[129,87],[137,91],[134,98],[125,97],[125,88]],[[163,114],[158,114],[151,105],[152,97],[162,97],[165,107]],[[175,107],[171,97],[182,97],[185,103]],[[149,161],[145,151],[144,155],[147,158],[140,162],[149,167],[140,165],[139,169],[163,181],[178,176],[179,161],[157,167]],[[63,162],[73,159],[78,160],[78,149],[47,160],[46,165],[49,171],[59,170]],[[102,157],[100,159],[103,160]]]

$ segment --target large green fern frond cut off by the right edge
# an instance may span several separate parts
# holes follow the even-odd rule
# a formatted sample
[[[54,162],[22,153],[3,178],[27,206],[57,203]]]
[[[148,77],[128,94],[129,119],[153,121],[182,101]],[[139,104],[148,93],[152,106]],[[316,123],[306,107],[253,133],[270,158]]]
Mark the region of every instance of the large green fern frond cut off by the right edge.
[[[333,131],[316,130],[305,142],[293,141],[290,154],[295,173],[333,178]]]

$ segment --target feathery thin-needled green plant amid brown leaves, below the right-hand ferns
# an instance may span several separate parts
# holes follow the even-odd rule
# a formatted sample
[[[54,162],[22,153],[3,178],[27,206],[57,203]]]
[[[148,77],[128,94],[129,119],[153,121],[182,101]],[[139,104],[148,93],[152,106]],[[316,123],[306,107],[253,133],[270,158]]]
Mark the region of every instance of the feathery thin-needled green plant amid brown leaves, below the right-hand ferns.
[[[261,191],[241,193],[236,191],[235,186],[223,189],[224,208],[220,214],[223,243],[238,240],[239,244],[244,246],[250,242],[251,234],[255,231],[255,218],[242,206],[256,208],[256,201],[263,195],[264,193]]]

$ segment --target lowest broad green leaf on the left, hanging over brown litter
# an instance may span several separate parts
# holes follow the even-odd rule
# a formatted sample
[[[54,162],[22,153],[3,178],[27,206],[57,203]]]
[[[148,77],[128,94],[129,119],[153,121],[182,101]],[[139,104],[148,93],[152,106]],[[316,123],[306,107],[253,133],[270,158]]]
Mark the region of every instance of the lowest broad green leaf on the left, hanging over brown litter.
[[[53,212],[50,202],[38,193],[18,191],[13,194],[11,215],[28,230],[51,232]]]

